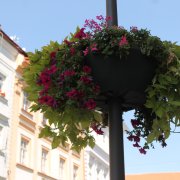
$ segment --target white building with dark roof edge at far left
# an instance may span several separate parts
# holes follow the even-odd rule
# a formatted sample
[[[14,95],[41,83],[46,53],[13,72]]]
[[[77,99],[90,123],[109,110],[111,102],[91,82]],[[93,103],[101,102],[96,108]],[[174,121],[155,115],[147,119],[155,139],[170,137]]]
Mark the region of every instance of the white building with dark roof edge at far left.
[[[7,179],[16,60],[24,53],[0,29],[0,179]],[[23,55],[22,55],[23,56]]]

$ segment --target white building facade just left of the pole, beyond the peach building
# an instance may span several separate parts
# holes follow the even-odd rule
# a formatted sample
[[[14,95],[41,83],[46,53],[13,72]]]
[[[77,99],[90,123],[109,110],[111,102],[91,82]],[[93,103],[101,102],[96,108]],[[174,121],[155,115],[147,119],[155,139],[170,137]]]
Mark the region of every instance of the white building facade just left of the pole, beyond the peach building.
[[[96,135],[96,145],[87,147],[84,153],[84,180],[109,180],[109,132],[103,129],[103,135]]]

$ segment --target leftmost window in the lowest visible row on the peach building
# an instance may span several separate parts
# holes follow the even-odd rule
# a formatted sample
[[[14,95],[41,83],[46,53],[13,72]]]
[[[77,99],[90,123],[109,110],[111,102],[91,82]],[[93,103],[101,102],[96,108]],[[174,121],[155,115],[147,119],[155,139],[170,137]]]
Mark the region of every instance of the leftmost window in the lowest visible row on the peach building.
[[[20,146],[20,163],[21,164],[28,163],[28,145],[29,145],[29,141],[25,138],[21,138],[21,146]]]

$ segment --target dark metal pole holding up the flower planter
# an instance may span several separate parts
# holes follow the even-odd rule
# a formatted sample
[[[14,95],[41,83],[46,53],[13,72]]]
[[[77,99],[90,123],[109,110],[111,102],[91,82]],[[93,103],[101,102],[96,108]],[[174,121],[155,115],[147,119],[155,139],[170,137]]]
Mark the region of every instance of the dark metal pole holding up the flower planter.
[[[106,15],[111,16],[110,26],[118,25],[117,1],[106,0]],[[109,100],[109,155],[110,180],[125,180],[122,106],[118,97]]]

